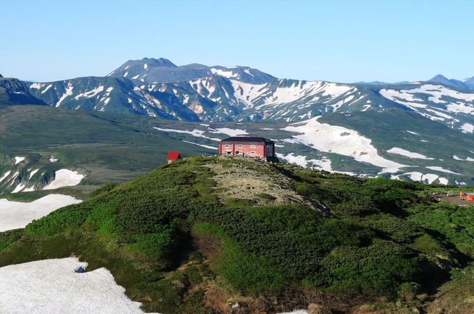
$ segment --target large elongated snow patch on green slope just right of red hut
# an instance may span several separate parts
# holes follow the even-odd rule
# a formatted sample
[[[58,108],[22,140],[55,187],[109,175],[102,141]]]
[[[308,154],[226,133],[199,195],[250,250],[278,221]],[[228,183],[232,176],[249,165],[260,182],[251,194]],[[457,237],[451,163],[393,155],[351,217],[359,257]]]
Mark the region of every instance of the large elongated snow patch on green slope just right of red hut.
[[[321,152],[335,152],[340,155],[353,157],[358,162],[367,162],[382,169],[381,173],[395,173],[406,167],[379,156],[376,148],[371,145],[370,139],[358,134],[353,129],[346,129],[336,125],[319,123],[318,118],[293,123],[282,130],[303,133],[284,139],[288,143],[302,143]]]

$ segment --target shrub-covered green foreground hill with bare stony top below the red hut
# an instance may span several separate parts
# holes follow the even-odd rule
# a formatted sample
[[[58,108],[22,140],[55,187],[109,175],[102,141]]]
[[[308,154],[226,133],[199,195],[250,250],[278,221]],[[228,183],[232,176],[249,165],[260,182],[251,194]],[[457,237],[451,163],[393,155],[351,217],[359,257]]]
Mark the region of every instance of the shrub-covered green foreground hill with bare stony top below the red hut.
[[[79,256],[159,313],[468,313],[474,206],[440,189],[191,157],[1,233],[0,265]]]

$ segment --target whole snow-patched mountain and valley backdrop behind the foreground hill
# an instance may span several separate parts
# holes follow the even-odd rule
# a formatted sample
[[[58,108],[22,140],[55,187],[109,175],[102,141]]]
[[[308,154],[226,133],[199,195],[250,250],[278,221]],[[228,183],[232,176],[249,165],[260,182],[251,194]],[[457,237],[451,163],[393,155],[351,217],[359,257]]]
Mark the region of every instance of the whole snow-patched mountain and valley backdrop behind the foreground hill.
[[[65,166],[84,184],[129,180],[169,150],[213,154],[236,135],[273,139],[277,157],[300,166],[473,185],[473,81],[340,84],[165,58],[127,61],[105,77],[1,77],[0,189],[42,189]]]

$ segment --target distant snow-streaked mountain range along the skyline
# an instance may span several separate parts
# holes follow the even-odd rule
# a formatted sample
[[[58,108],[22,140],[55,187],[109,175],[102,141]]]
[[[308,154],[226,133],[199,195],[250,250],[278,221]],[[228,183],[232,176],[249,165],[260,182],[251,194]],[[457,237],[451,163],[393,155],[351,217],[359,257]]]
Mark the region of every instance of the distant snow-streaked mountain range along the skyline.
[[[164,58],[144,58],[127,61],[107,77],[49,83],[1,79],[0,86],[10,103],[206,122],[296,122],[326,113],[401,108],[473,133],[474,91],[443,78],[410,84],[339,84],[276,79],[248,67],[176,66]],[[470,80],[459,82],[468,86]]]

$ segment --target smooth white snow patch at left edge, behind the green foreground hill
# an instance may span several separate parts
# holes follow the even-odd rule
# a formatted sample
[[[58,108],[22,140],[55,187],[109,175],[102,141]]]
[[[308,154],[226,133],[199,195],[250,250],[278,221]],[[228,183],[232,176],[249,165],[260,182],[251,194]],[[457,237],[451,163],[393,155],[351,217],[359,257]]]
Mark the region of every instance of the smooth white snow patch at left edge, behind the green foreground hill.
[[[81,203],[72,196],[49,194],[31,203],[0,199],[0,232],[24,228],[33,219],[40,219],[58,208]]]

